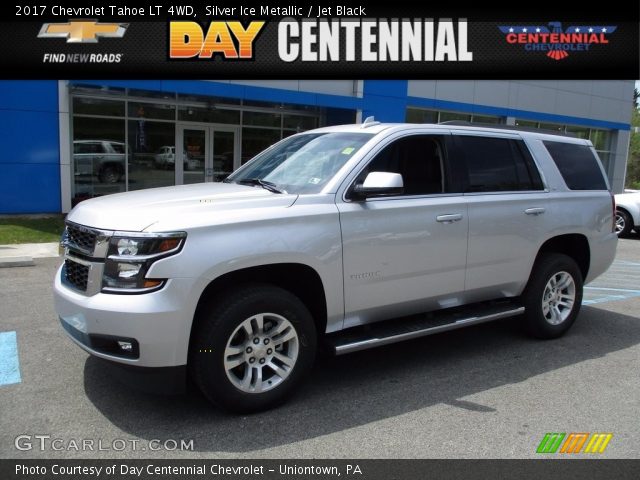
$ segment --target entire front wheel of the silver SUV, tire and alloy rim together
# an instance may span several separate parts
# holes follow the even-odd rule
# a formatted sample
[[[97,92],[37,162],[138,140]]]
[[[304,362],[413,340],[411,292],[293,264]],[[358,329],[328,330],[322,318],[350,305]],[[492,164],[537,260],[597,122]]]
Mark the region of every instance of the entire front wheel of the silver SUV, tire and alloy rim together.
[[[191,371],[204,395],[236,412],[285,401],[313,364],[316,331],[304,304],[270,285],[242,287],[205,307]]]

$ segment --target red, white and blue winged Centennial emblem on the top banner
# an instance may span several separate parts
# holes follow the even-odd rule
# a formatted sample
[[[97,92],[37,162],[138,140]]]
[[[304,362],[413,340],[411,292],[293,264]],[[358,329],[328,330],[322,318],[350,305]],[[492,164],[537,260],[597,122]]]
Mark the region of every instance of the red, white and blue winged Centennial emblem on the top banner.
[[[545,53],[553,60],[563,60],[573,52],[588,52],[593,45],[606,45],[613,25],[572,25],[560,22],[547,25],[506,25],[498,27],[509,44],[522,45],[528,52]]]

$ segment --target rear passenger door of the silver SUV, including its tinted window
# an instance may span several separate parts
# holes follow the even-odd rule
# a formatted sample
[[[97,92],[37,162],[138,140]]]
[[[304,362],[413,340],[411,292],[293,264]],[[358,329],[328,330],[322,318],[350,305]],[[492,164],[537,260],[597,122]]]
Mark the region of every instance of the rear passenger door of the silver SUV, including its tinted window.
[[[539,170],[516,134],[454,131],[452,138],[467,178],[467,300],[519,295],[548,230]]]

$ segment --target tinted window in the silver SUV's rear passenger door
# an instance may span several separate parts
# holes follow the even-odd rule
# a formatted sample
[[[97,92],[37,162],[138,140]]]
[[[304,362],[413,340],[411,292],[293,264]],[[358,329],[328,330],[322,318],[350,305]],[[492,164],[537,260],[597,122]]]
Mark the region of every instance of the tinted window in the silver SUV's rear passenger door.
[[[458,136],[467,167],[466,192],[542,190],[542,180],[521,140]]]

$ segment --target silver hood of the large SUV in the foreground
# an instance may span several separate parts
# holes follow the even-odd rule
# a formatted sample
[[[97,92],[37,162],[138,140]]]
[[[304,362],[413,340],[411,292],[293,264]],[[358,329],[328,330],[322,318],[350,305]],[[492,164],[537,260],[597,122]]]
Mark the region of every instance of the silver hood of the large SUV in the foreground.
[[[232,183],[198,183],[151,188],[92,198],[78,204],[69,221],[104,230],[154,231],[163,227],[188,228],[189,218],[212,217],[216,212],[257,208],[286,208],[297,195],[276,194],[261,187]]]

